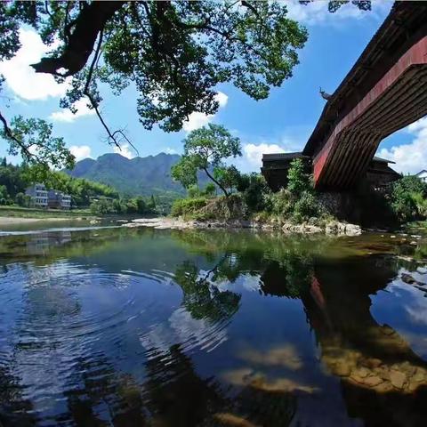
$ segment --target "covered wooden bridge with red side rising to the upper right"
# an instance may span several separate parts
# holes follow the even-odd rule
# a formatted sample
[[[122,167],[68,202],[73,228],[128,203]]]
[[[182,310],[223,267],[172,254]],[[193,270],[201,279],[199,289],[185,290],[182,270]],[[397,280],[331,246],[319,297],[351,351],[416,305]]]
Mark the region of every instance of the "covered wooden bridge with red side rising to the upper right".
[[[380,142],[425,115],[427,2],[396,2],[326,102],[302,153],[292,154],[310,159],[318,189],[351,189],[376,167]],[[262,173],[273,182],[271,156],[264,155]],[[283,173],[288,163],[283,157]]]

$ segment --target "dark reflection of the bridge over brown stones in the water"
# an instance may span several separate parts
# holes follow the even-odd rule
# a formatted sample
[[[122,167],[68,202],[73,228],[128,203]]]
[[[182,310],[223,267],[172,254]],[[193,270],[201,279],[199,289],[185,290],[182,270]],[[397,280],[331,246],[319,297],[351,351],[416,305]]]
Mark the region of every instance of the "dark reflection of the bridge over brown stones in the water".
[[[302,301],[322,362],[341,378],[349,414],[376,420],[369,425],[423,425],[427,363],[370,312],[369,294],[383,289],[395,274],[384,266],[373,269],[369,259],[340,268],[318,265]]]

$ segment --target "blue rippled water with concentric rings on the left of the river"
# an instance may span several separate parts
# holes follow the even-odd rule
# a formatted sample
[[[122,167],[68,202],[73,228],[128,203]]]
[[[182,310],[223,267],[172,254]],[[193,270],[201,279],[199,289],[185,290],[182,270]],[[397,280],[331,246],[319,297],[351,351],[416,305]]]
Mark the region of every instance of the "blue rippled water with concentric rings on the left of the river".
[[[228,320],[191,314],[168,271],[22,262],[4,267],[0,280],[1,387],[12,396],[7,405],[43,415],[40,425],[67,420],[70,399],[119,399],[114,384],[126,370],[144,383],[149,364],[157,385],[173,381],[188,369],[177,346],[208,352],[227,340]],[[0,414],[5,405],[0,398]]]

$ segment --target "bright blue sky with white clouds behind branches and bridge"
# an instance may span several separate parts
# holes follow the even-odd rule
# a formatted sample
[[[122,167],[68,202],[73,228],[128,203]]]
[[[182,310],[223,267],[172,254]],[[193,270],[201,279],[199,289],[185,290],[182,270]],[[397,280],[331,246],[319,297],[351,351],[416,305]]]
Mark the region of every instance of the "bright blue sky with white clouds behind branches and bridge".
[[[104,91],[102,111],[111,127],[125,127],[140,156],[148,156],[160,151],[181,153],[181,141],[190,129],[209,121],[222,124],[241,138],[244,155],[233,163],[244,171],[259,171],[262,152],[302,149],[325,105],[318,94],[319,86],[328,93],[334,92],[390,11],[391,2],[374,2],[372,12],[360,12],[348,4],[334,14],[327,12],[327,2],[307,6],[297,2],[287,4],[290,16],[308,28],[309,40],[300,51],[300,64],[294,68],[294,77],[282,87],[272,89],[267,100],[254,101],[232,85],[222,85],[218,87],[222,107],[214,117],[197,113],[181,132],[164,133],[158,128],[149,132],[140,125],[133,88],[119,97]],[[0,98],[4,115],[10,118],[22,114],[52,121],[55,133],[65,138],[77,159],[113,152],[113,147],[104,142],[101,124],[85,108],[85,102],[76,116],[60,109],[64,88],[56,85],[52,77],[35,75],[28,67],[44,50],[36,33],[25,28],[20,37],[23,47],[17,57],[0,63],[0,73],[6,77],[3,94],[12,99]],[[4,156],[5,149],[2,144],[0,156]],[[426,119],[391,135],[378,152],[395,160],[396,169],[405,173],[416,173],[426,167],[426,153]],[[126,145],[120,154],[136,155]]]

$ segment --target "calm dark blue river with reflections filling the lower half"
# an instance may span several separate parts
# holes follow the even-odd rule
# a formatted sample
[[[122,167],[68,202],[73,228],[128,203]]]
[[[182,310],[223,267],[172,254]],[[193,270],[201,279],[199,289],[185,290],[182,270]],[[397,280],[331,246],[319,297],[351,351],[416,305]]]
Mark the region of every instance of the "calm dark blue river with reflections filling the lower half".
[[[1,237],[1,423],[426,425],[423,241]]]

